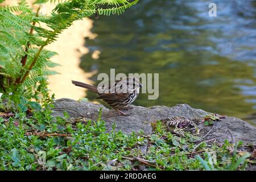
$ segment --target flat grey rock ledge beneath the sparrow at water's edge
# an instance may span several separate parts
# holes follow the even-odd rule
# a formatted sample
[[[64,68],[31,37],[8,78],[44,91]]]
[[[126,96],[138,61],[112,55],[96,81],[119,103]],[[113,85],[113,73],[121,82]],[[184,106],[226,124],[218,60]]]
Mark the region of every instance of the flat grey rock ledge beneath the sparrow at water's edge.
[[[106,121],[108,131],[112,129],[115,123],[115,130],[122,130],[124,133],[138,132],[143,130],[146,134],[152,132],[151,122],[159,119],[171,118],[174,116],[195,119],[202,118],[205,114],[210,114],[201,109],[193,109],[187,104],[177,104],[174,107],[153,106],[141,107],[133,106],[129,110],[123,110],[125,113],[132,113],[129,116],[118,115],[114,110],[110,110],[103,105],[92,102],[75,101],[68,98],[56,100],[53,116],[63,116],[63,111],[67,111],[70,117],[84,117],[94,121],[98,118],[98,113],[102,107],[102,119]],[[203,133],[210,133],[205,139],[215,138],[218,141],[228,139],[230,142],[243,140],[245,143],[256,143],[256,127],[235,117],[226,117],[221,121],[214,122],[213,126],[200,125]]]

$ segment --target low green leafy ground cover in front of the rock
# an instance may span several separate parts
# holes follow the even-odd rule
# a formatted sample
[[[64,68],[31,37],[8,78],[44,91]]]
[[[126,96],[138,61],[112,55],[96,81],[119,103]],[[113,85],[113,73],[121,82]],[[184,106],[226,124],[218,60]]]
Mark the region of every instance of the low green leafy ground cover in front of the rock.
[[[67,113],[53,118],[48,106],[29,117],[1,115],[2,170],[243,170],[255,163],[241,143],[197,144],[190,134],[171,134],[160,121],[151,135],[126,135],[114,124],[106,133],[101,114],[97,121]]]

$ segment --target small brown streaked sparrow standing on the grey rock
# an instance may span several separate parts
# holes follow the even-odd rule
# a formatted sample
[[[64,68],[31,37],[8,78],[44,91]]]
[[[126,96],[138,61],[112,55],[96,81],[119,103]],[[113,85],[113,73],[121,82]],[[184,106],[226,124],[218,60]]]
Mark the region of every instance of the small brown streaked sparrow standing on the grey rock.
[[[72,81],[72,84],[98,93],[99,97],[97,98],[105,101],[122,115],[128,114],[123,113],[119,109],[129,109],[130,107],[128,106],[138,97],[139,88],[142,86],[135,77],[126,77],[108,85],[98,87],[79,81]]]

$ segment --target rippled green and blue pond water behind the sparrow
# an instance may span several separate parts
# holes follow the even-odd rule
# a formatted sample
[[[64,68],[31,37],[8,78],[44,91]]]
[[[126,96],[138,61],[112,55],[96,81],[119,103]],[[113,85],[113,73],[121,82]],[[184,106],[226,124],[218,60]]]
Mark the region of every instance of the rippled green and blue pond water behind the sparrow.
[[[159,98],[135,105],[192,107],[245,118],[256,113],[256,1],[143,0],[121,16],[100,16],[86,40],[86,72],[160,73]],[[98,59],[92,53],[101,52]],[[97,75],[92,77],[96,81]],[[96,98],[88,92],[88,98]],[[250,121],[254,122],[255,121]]]

